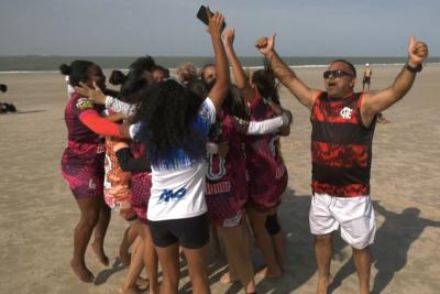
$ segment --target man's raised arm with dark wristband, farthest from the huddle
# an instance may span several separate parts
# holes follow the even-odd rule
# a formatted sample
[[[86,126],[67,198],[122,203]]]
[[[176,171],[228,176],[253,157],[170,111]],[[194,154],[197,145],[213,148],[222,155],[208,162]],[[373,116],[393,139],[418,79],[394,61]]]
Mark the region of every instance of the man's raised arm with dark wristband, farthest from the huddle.
[[[365,92],[361,105],[361,116],[365,126],[370,126],[374,117],[387,109],[408,92],[416,79],[417,72],[421,70],[421,63],[428,57],[428,46],[424,42],[416,42],[409,37],[408,63],[397,75],[393,85],[377,92]]]

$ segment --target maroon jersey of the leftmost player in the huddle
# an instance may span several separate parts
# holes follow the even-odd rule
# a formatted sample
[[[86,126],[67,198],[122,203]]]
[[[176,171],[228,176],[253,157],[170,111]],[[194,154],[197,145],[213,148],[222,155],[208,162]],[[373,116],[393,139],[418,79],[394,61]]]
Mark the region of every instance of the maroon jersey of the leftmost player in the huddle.
[[[105,139],[87,128],[80,117],[88,111],[103,110],[103,107],[95,105],[88,98],[74,92],[65,108],[65,121],[67,126],[67,149],[63,154],[63,162],[70,164],[95,164],[98,160],[103,166]],[[97,153],[102,156],[97,157]]]

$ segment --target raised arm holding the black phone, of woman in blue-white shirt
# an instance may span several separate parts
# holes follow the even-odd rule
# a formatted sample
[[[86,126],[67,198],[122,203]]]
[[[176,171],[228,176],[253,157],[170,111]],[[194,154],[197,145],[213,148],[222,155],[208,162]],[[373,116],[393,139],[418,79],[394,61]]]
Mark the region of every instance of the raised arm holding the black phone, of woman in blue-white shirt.
[[[212,100],[216,111],[221,109],[224,98],[227,97],[229,86],[231,84],[229,77],[228,57],[224,52],[223,43],[221,41],[221,30],[224,23],[224,18],[219,12],[212,14],[208,10],[209,25],[208,33],[211,35],[213,54],[216,61],[217,78],[216,84],[209,91],[209,98]]]

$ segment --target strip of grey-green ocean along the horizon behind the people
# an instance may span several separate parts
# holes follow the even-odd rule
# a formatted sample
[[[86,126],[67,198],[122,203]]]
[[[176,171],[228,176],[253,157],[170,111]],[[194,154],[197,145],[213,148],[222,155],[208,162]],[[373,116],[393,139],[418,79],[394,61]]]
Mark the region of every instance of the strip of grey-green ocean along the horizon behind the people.
[[[92,61],[103,69],[127,69],[138,56],[0,56],[0,73],[13,72],[57,72],[61,64],[69,64],[75,59]],[[341,58],[332,57],[284,57],[286,64],[294,67],[324,67],[331,61]],[[354,65],[394,65],[405,64],[406,57],[344,57]],[[193,63],[197,67],[212,63],[212,56],[158,56],[154,57],[157,64],[169,69],[177,68],[182,63]],[[244,67],[263,66],[262,56],[240,57]],[[428,63],[440,63],[440,57],[429,57]]]

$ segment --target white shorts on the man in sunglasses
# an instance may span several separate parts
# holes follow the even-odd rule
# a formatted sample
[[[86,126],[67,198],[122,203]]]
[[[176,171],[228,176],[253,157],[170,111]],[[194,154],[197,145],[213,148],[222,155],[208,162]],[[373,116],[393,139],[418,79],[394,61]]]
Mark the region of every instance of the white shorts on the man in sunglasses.
[[[327,235],[341,226],[342,239],[355,249],[374,242],[376,222],[370,196],[345,198],[314,194],[309,221],[312,235]]]

